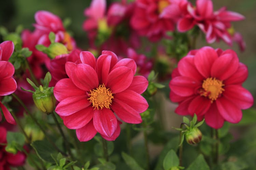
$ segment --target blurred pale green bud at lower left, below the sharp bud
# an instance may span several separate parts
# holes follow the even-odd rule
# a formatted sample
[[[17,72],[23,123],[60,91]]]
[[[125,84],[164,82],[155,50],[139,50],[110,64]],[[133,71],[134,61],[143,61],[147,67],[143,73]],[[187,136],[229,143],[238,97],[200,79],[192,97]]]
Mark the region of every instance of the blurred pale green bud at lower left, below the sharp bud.
[[[44,133],[39,128],[37,128],[37,126],[31,126],[27,124],[24,127],[24,131],[27,134],[27,136],[31,139],[31,142],[36,140],[43,140],[44,138]]]

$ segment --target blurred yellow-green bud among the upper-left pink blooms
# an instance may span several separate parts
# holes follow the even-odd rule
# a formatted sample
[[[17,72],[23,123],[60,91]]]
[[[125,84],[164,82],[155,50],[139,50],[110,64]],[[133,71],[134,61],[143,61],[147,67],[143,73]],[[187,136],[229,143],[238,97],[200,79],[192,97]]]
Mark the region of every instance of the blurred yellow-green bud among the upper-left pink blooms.
[[[50,58],[55,58],[57,55],[61,55],[61,54],[68,54],[67,47],[61,43],[52,43],[47,48],[47,55]]]

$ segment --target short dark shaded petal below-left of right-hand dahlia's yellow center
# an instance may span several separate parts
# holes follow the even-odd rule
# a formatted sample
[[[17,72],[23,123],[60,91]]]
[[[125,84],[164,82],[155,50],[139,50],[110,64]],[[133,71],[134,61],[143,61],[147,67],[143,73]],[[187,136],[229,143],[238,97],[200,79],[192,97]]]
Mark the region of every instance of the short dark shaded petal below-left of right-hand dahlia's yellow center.
[[[188,112],[190,114],[203,115],[208,111],[211,106],[211,101],[202,96],[195,97],[188,106]]]

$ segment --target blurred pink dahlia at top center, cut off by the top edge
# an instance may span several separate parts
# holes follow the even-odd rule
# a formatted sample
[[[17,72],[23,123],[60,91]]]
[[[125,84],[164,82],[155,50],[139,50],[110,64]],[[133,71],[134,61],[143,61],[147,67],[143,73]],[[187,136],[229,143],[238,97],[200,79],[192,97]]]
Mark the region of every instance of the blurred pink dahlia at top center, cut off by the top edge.
[[[166,36],[167,31],[175,29],[171,19],[160,17],[165,7],[170,4],[168,0],[136,0],[135,4],[130,25],[141,36],[158,41]]]

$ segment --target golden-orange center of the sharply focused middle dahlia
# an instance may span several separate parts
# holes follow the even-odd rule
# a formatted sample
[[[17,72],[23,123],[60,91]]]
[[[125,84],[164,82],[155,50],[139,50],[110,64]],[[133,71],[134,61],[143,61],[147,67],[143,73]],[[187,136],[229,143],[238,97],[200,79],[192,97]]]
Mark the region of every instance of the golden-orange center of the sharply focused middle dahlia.
[[[90,90],[90,92],[90,98],[88,98],[88,100],[93,103],[93,107],[95,107],[94,109],[97,108],[99,110],[99,107],[101,109],[104,107],[110,109],[110,105],[114,97],[109,88],[107,89],[104,84],[101,84],[98,88],[93,89],[93,91]]]

